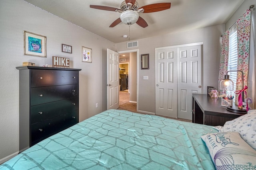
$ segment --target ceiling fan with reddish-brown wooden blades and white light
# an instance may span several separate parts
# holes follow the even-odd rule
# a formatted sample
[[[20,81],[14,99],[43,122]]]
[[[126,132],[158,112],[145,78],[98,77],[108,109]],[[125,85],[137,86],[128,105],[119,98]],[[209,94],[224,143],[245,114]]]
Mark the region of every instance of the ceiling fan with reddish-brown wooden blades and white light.
[[[114,27],[120,22],[123,22],[129,26],[137,23],[141,27],[145,28],[148,26],[148,23],[142,17],[140,17],[138,13],[150,13],[167,10],[171,8],[171,3],[156,3],[139,8],[139,4],[136,0],[125,0],[121,3],[120,9],[100,5],[90,5],[90,8],[121,13],[120,18],[115,20],[109,27]]]

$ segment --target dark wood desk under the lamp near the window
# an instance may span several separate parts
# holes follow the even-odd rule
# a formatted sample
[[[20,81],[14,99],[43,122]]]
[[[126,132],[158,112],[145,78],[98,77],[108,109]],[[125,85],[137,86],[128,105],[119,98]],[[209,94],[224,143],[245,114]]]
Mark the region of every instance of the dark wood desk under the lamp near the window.
[[[207,94],[192,94],[192,122],[204,125],[223,126],[226,121],[244,115],[221,106],[221,99],[212,99]]]

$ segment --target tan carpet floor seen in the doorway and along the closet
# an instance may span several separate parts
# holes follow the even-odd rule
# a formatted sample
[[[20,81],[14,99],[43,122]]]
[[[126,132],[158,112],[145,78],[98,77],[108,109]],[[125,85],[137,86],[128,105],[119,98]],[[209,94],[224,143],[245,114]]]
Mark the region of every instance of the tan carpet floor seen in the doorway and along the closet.
[[[136,103],[131,103],[130,102],[130,93],[128,92],[119,92],[119,110],[128,110],[134,113],[140,113],[137,111],[137,104]],[[144,114],[144,113],[141,113]],[[161,116],[161,115],[158,115]],[[188,119],[181,119],[181,118],[172,118],[172,117],[166,117],[166,116],[161,116],[169,119],[175,119],[179,121],[186,121],[186,122],[192,122],[191,120]]]

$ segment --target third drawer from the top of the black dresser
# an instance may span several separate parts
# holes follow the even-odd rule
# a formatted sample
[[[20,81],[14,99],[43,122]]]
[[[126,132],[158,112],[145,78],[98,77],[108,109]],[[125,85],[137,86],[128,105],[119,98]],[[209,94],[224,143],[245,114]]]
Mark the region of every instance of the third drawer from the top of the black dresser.
[[[78,97],[30,107],[31,124],[78,110]]]

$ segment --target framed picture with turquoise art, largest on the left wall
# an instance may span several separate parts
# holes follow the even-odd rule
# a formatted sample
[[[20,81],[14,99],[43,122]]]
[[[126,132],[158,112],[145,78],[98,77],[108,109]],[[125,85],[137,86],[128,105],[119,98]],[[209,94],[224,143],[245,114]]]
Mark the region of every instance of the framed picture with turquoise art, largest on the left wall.
[[[46,37],[24,31],[24,55],[46,57]]]

